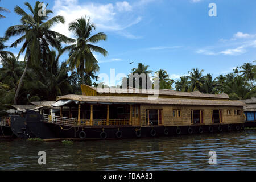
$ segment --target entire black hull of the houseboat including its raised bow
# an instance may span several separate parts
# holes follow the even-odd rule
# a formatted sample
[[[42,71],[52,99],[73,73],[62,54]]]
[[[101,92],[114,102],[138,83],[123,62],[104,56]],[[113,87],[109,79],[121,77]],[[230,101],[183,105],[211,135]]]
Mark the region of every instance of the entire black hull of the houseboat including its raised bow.
[[[35,111],[27,110],[26,118],[16,117],[11,119],[11,128],[20,138],[42,139],[113,139],[113,138],[140,138],[160,137],[181,134],[216,133],[240,131],[244,129],[243,123],[238,124],[213,124],[193,126],[86,126],[73,127],[44,122],[42,115]],[[210,130],[212,129],[212,130]],[[23,133],[22,133],[23,132]]]

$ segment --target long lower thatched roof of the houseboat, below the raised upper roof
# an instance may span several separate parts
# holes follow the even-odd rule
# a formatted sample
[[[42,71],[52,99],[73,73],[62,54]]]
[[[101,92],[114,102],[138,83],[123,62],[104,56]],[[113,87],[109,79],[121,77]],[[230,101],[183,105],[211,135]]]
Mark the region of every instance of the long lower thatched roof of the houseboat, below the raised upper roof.
[[[81,96],[67,95],[60,96],[57,101],[73,100],[95,104],[170,104],[170,105],[214,105],[214,106],[245,106],[241,101],[230,100],[206,100],[188,98],[161,98],[149,100],[148,97],[129,96]]]

